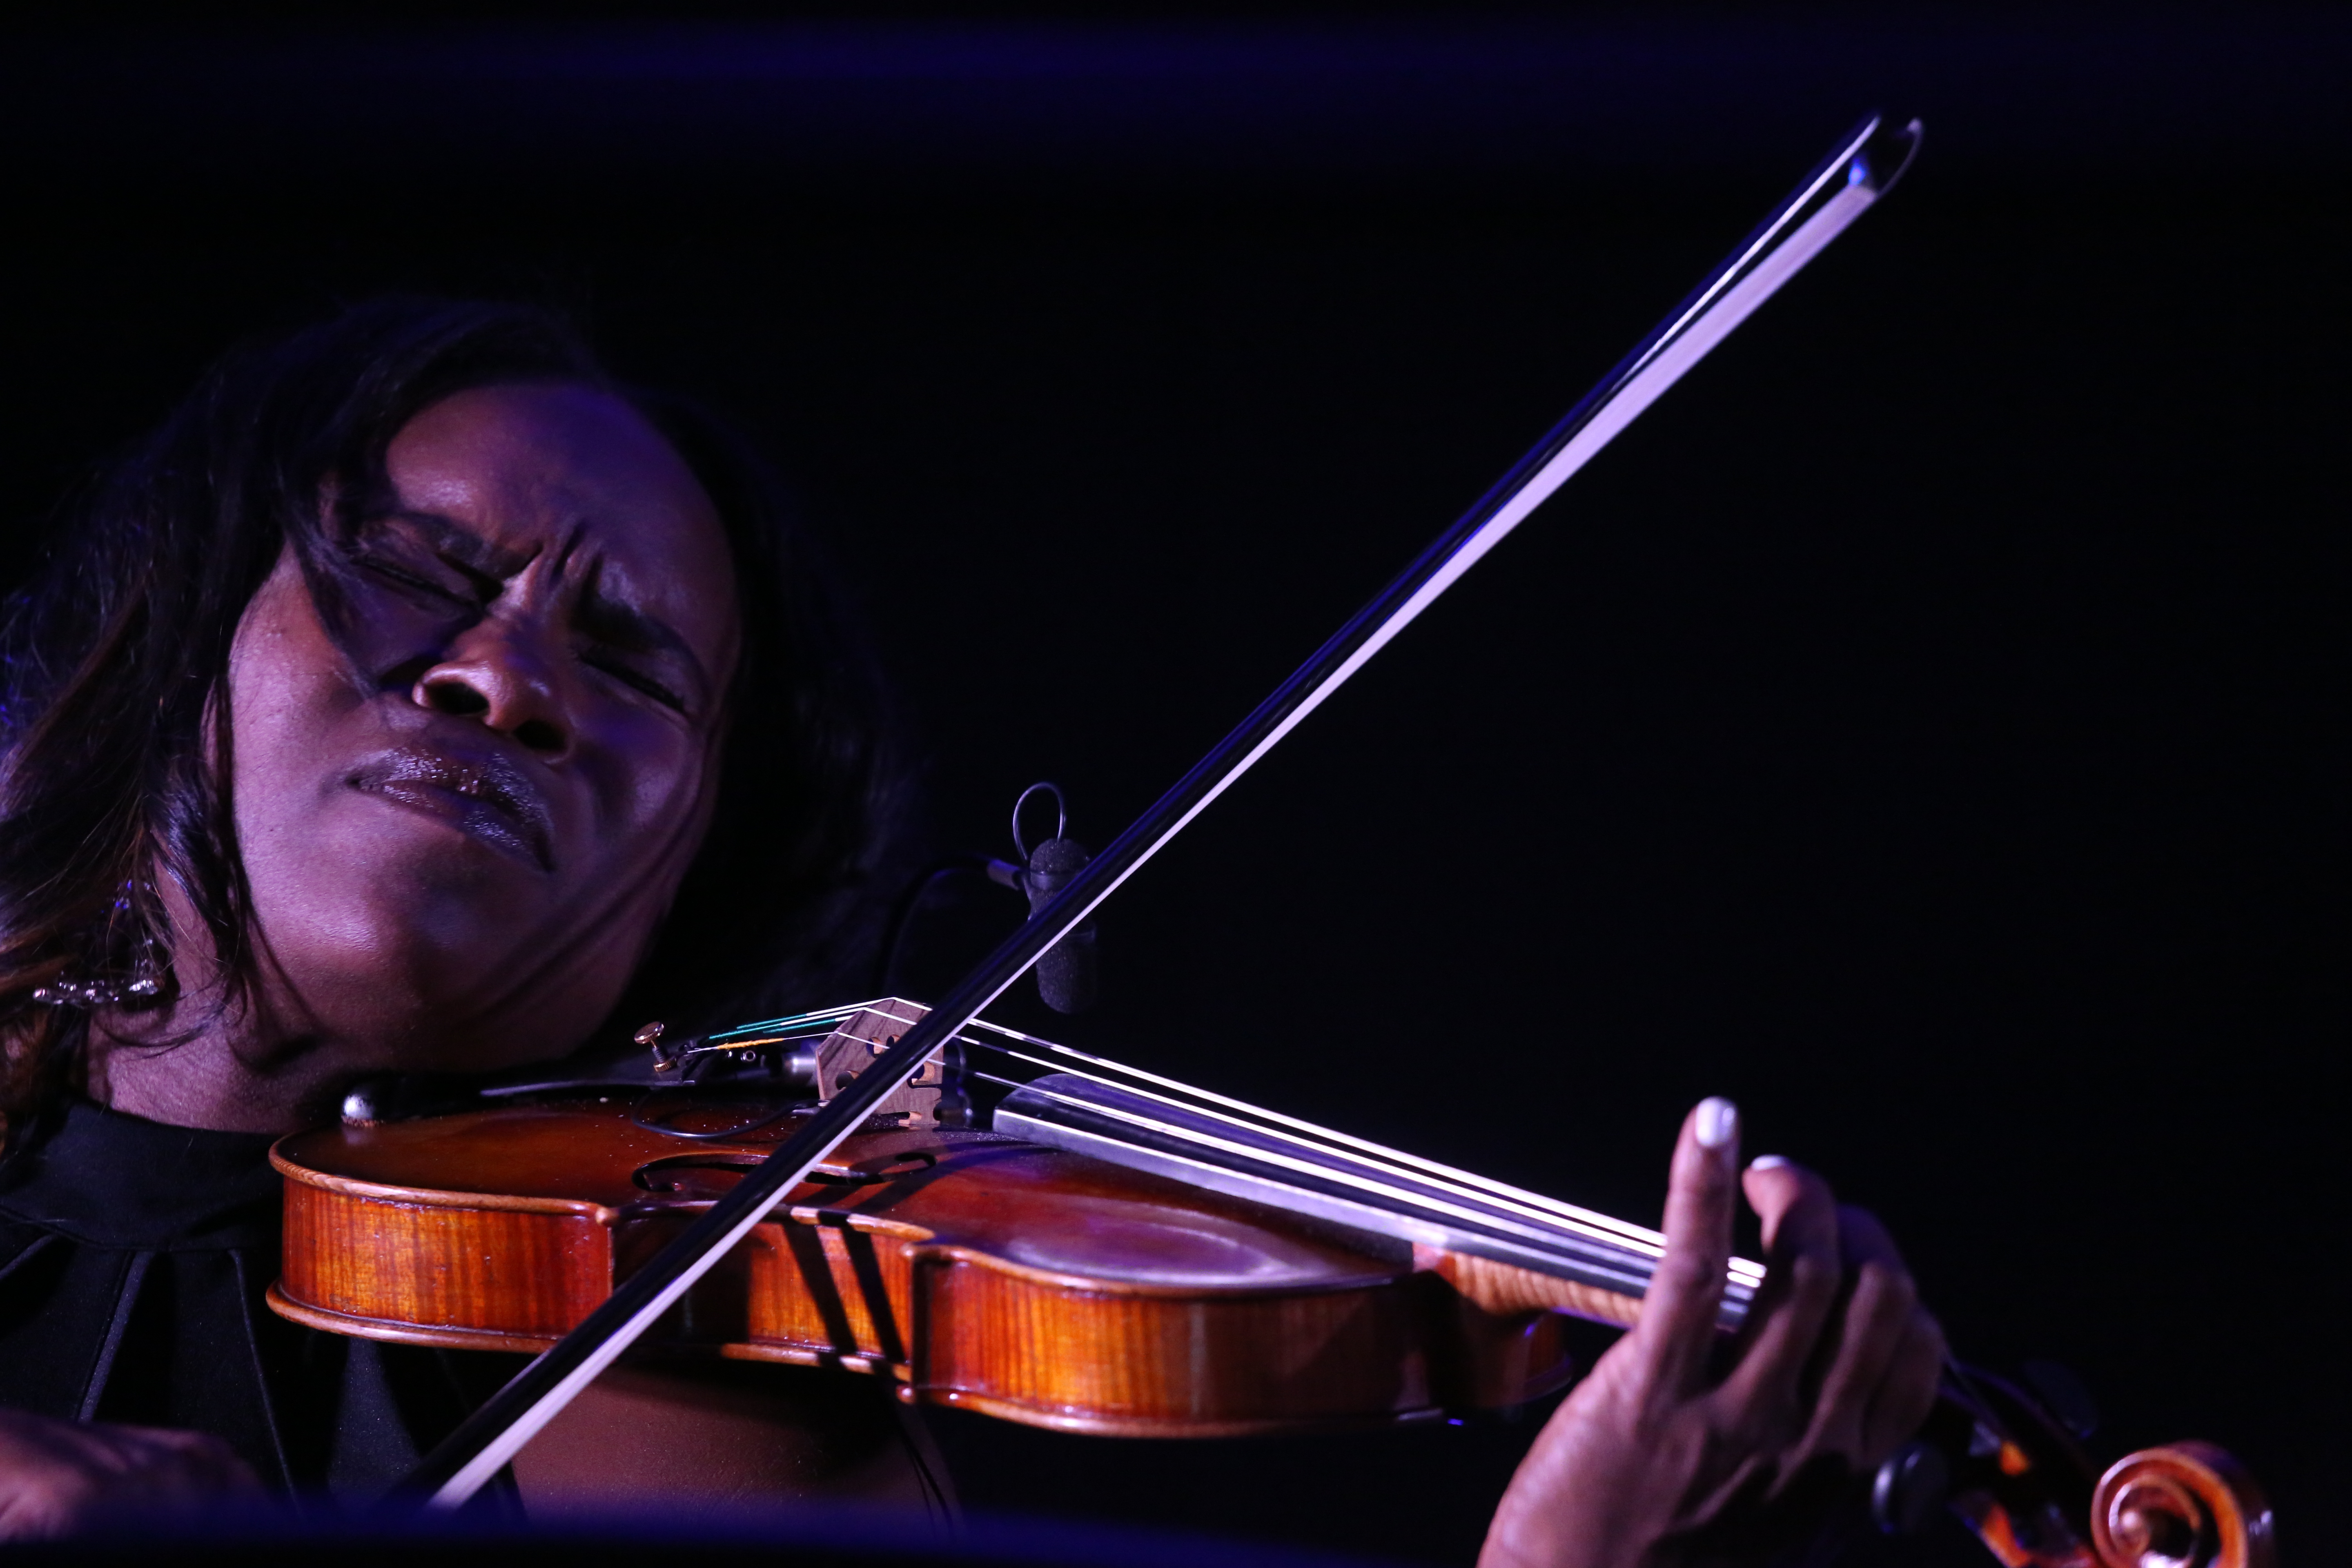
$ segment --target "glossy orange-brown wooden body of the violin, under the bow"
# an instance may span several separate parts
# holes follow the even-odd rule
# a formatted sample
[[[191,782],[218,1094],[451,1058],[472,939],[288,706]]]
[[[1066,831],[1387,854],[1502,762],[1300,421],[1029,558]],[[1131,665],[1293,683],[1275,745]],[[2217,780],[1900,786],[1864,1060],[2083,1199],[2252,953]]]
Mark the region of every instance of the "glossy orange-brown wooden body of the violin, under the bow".
[[[741,1107],[689,1112],[713,1128]],[[539,1352],[797,1128],[680,1145],[628,1098],[287,1138],[282,1316]],[[851,1135],[666,1321],[659,1349],[840,1366],[1037,1427],[1237,1436],[1510,1406],[1562,1319],[1489,1312],[1409,1246],[1087,1154]]]

